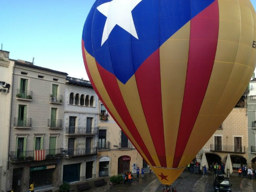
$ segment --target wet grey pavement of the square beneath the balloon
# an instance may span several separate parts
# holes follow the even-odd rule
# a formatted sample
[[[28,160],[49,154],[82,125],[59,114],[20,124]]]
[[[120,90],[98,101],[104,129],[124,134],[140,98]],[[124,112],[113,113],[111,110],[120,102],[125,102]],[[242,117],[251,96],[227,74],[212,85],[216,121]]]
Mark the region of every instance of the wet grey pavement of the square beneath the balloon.
[[[89,185],[92,186],[90,190],[86,192],[163,192],[163,185],[158,181],[158,178],[153,174],[150,175],[148,172],[144,174],[144,178],[133,179],[131,185],[117,184],[113,188],[109,184],[105,184],[101,187],[95,187],[94,181],[98,180],[91,179]],[[110,181],[110,177],[104,177],[106,182]],[[172,186],[177,192],[214,192],[213,189],[214,175],[203,176],[202,174],[190,174],[183,172]],[[71,184],[71,189],[77,191],[76,185],[84,182],[77,182]],[[232,184],[232,192],[256,192],[256,179],[248,180],[247,178],[238,177],[237,172],[233,172],[230,175],[230,184]]]

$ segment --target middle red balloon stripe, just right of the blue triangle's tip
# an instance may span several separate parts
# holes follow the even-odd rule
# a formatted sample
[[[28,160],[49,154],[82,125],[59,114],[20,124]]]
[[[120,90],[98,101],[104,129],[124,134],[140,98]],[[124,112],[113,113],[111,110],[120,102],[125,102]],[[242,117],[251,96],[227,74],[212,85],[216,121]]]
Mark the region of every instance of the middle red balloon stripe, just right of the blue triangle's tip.
[[[162,167],[166,167],[159,58],[158,49],[138,68],[135,78],[144,116],[159,162]]]

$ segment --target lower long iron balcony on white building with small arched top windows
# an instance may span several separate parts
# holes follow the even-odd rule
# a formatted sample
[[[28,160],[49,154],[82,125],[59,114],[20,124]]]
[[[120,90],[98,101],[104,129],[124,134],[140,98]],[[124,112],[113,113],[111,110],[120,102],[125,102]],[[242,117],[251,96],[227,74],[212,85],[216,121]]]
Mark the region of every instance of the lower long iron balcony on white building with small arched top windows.
[[[78,157],[78,156],[90,156],[97,154],[97,147],[86,148],[69,148],[63,151],[64,158]]]

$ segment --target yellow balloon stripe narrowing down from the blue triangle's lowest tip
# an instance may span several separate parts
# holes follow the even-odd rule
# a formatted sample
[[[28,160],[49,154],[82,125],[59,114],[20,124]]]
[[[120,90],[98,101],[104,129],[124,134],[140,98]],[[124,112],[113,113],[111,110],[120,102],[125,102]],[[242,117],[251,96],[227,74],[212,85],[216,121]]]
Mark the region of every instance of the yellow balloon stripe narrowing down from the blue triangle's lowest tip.
[[[136,84],[135,75],[133,75],[126,84],[123,84],[117,79],[118,86],[122,93],[122,97],[126,104],[126,107],[132,117],[132,120],[142,138],[142,142],[146,145],[148,152],[154,160],[156,166],[160,166],[160,162],[152,141],[150,132],[148,130],[148,124],[144,116],[143,108],[140,102],[140,95]],[[136,146],[137,148],[138,146]]]

